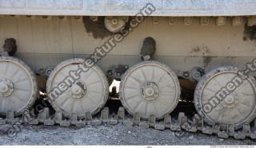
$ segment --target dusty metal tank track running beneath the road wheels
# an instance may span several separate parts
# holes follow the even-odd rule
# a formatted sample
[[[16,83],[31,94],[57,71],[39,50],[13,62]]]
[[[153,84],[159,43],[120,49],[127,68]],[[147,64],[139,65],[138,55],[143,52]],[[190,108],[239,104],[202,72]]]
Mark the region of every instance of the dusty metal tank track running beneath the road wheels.
[[[50,108],[45,107],[38,115],[30,110],[23,112],[22,116],[14,117],[14,111],[7,111],[6,118],[0,118],[0,125],[10,124],[7,134],[10,137],[14,137],[22,130],[23,125],[39,125],[60,127],[86,127],[86,126],[114,126],[117,124],[123,124],[124,126],[133,127],[139,126],[142,128],[154,128],[156,130],[172,130],[177,132],[177,136],[182,132],[201,132],[202,134],[214,134],[218,138],[256,138],[256,119],[252,123],[243,124],[242,129],[235,130],[234,125],[226,127],[221,130],[216,124],[213,127],[209,127],[203,122],[203,119],[194,114],[192,117],[187,116],[184,112],[178,112],[178,117],[172,117],[171,115],[165,115],[164,119],[156,120],[154,115],[150,115],[149,119],[141,119],[139,113],[135,113],[133,116],[126,115],[124,107],[119,107],[117,112],[111,113],[109,107],[104,107],[98,115],[92,116],[90,112],[87,112],[84,119],[78,119],[75,112],[70,114],[70,118],[65,118],[62,112],[55,112],[50,115]]]

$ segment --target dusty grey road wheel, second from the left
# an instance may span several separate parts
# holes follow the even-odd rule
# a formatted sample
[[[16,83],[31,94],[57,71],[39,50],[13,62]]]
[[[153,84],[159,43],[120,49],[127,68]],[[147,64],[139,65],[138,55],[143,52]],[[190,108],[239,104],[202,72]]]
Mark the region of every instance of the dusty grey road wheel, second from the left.
[[[83,59],[65,60],[51,72],[47,84],[50,103],[66,117],[76,112],[84,118],[86,112],[95,115],[104,107],[109,84],[101,68],[94,65],[86,70]]]

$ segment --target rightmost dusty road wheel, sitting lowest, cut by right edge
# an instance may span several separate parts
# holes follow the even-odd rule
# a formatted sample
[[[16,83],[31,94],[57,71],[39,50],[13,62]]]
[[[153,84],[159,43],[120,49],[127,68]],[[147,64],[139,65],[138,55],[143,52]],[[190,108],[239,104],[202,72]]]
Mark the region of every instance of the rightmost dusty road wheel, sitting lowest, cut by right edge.
[[[198,82],[194,103],[206,123],[242,127],[256,117],[255,80],[246,79],[238,68],[216,68]]]

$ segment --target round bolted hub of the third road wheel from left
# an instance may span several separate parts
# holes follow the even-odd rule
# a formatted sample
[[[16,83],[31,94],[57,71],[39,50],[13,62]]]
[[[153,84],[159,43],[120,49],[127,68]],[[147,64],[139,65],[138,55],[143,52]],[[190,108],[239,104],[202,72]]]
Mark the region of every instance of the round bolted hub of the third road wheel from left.
[[[145,84],[142,85],[141,95],[143,99],[147,101],[151,101],[156,99],[158,97],[158,94],[159,94],[158,85],[155,84],[154,82],[146,82]]]

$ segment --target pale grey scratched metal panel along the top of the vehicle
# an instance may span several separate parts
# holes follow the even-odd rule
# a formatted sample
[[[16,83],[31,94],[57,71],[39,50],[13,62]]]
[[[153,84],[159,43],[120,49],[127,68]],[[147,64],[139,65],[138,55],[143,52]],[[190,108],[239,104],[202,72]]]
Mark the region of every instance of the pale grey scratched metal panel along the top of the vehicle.
[[[256,15],[255,0],[0,0],[0,14],[126,16],[148,2],[153,16]]]

